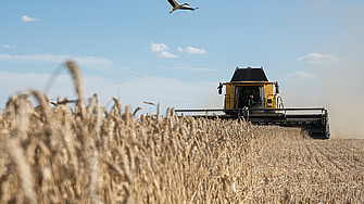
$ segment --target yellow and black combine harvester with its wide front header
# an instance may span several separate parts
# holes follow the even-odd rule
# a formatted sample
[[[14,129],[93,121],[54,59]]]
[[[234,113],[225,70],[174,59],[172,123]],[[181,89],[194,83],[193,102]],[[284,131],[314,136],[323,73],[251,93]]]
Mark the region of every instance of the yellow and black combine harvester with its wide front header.
[[[235,69],[230,82],[219,82],[218,94],[226,88],[224,109],[175,110],[175,113],[214,119],[241,119],[254,125],[299,127],[312,138],[330,138],[325,107],[284,106],[278,82],[268,81],[263,67]]]

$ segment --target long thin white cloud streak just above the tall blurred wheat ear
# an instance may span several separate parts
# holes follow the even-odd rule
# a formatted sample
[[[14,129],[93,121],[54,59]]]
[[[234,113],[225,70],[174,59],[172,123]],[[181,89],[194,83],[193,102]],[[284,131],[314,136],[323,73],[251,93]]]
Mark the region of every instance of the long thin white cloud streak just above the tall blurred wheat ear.
[[[53,54],[29,54],[29,55],[13,55],[0,53],[0,61],[10,62],[46,62],[46,63],[62,63],[68,59],[75,60],[81,66],[101,69],[110,67],[113,61],[97,56],[72,56],[72,55],[53,55]]]

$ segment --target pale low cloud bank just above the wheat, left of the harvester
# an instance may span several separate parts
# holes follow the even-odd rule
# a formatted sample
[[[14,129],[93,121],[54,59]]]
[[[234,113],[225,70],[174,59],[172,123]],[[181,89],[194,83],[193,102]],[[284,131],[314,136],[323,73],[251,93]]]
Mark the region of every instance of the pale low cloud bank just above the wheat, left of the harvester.
[[[8,101],[9,95],[18,90],[27,91],[27,88],[43,89],[49,74],[42,73],[11,73],[0,71],[0,81],[3,87],[0,89],[0,102]],[[150,110],[142,101],[161,102],[161,112],[167,107],[219,107],[222,98],[216,94],[215,81],[184,82],[179,79],[163,77],[127,77],[123,80],[112,78],[84,75],[86,95],[91,98],[95,92],[99,94],[100,102],[106,104],[111,95],[120,94],[123,104],[130,104],[133,107],[142,106],[145,111]],[[149,85],[149,86],[146,86]],[[120,93],[118,93],[118,90]],[[204,93],[204,94],[201,94]],[[72,77],[67,74],[60,75],[48,95],[53,100],[58,95],[75,99]],[[116,95],[115,95],[116,97]],[[4,104],[3,104],[4,105]],[[154,110],[153,110],[154,111]]]

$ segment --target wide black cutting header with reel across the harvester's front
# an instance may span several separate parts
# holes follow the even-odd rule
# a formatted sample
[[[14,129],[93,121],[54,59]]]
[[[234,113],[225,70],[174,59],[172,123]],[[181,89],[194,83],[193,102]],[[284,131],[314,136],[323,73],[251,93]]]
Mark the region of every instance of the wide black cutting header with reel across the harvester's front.
[[[175,110],[177,115],[205,117],[210,119],[244,118],[253,125],[298,127],[312,138],[330,138],[328,112],[325,107],[291,107],[291,109],[196,109]]]

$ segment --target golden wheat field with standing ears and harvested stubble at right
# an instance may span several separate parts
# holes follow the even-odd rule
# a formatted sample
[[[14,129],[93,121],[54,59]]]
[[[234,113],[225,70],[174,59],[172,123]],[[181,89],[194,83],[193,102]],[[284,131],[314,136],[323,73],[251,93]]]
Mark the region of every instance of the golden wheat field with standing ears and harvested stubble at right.
[[[362,140],[138,114],[115,98],[106,111],[66,67],[74,106],[30,90],[0,116],[1,203],[364,203]]]

